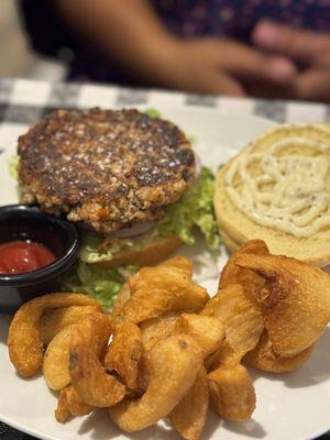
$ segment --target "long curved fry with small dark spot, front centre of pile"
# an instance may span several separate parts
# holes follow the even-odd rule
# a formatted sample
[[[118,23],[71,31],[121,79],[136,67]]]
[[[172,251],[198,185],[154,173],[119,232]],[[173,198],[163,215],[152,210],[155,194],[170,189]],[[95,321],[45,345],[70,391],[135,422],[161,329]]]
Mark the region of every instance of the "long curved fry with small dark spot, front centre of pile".
[[[146,392],[138,400],[127,397],[109,408],[112,420],[127,432],[156,424],[182,400],[201,366],[201,350],[190,336],[175,334],[158,341],[146,355]]]

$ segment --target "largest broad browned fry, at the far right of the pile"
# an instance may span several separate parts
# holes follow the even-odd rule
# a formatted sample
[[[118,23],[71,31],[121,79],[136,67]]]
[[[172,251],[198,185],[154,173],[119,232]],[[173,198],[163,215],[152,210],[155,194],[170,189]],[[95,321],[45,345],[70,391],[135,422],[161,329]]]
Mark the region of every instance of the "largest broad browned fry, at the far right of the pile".
[[[312,345],[330,320],[329,275],[286,256],[241,254],[234,261],[266,282],[253,294],[274,353],[293,358]]]

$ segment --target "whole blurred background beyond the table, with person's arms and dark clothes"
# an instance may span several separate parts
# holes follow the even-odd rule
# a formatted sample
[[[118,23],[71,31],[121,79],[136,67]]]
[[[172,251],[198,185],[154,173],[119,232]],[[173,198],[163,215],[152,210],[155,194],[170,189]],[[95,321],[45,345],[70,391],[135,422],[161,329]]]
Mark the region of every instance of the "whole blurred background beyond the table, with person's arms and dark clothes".
[[[330,102],[330,0],[1,0],[0,77]]]

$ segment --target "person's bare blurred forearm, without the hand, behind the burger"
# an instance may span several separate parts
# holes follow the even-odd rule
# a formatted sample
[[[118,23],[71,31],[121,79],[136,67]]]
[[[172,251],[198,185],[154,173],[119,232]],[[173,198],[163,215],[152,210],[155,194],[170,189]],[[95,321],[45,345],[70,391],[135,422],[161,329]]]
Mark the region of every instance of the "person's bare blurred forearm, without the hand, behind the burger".
[[[150,64],[154,64],[154,70],[173,50],[175,38],[147,0],[56,0],[56,3],[72,28],[139,79],[153,79],[157,73],[151,72]]]

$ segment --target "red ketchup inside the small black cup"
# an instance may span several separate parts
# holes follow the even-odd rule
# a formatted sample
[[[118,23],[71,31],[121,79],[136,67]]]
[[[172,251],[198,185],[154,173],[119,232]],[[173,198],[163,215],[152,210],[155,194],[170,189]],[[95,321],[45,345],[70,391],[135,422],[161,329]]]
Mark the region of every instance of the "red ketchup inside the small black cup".
[[[56,260],[43,244],[16,240],[0,244],[0,274],[23,274],[47,266]]]

